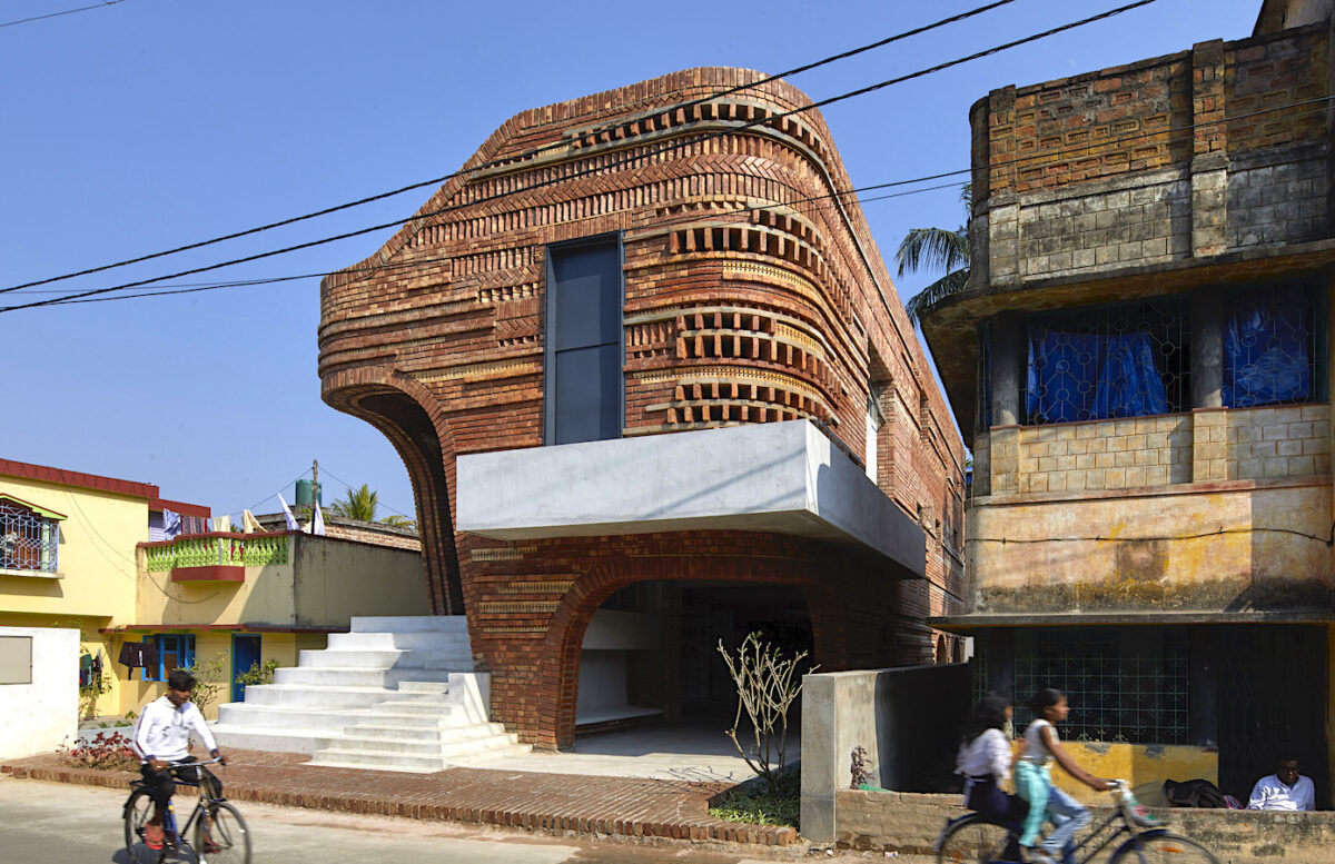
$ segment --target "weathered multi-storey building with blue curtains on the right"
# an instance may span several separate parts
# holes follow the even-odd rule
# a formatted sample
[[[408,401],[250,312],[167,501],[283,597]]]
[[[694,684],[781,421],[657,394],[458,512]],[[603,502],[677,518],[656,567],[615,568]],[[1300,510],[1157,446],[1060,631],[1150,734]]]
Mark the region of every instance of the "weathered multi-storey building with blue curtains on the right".
[[[1328,803],[1330,7],[972,109],[972,279],[924,315],[975,455],[936,623],[980,691],[1068,691],[1095,771],[1246,796],[1292,748]]]

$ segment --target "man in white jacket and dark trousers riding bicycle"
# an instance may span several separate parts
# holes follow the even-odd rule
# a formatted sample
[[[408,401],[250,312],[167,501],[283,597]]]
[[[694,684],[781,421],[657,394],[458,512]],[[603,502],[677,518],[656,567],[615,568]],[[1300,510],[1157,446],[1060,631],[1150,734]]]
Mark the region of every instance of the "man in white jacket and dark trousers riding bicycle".
[[[144,705],[135,723],[135,751],[143,760],[139,772],[154,797],[154,817],[144,825],[144,843],[150,849],[163,848],[163,813],[167,812],[167,801],[176,792],[176,777],[186,783],[206,784],[215,797],[223,795],[223,784],[207,768],[174,768],[168,764],[195,760],[187,752],[192,731],[203,739],[204,747],[215,759],[227,764],[218,752],[218,743],[204,723],[204,715],[190,701],[192,689],[194,676],[180,669],[172,671],[167,676],[167,695]]]

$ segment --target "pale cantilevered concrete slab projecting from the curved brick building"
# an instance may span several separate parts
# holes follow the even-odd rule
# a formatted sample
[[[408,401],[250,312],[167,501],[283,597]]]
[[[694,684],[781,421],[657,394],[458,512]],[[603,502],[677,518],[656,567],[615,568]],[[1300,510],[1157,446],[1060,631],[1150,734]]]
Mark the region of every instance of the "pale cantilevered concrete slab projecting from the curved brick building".
[[[461,456],[458,529],[498,540],[768,531],[925,575],[922,529],[808,420]]]

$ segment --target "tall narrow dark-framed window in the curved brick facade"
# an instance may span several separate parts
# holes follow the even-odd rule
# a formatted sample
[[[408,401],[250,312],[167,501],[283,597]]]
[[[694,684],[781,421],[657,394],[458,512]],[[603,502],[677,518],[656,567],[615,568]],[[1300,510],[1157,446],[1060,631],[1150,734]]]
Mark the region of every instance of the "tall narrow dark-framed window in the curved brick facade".
[[[622,304],[619,236],[547,249],[547,444],[621,435]]]

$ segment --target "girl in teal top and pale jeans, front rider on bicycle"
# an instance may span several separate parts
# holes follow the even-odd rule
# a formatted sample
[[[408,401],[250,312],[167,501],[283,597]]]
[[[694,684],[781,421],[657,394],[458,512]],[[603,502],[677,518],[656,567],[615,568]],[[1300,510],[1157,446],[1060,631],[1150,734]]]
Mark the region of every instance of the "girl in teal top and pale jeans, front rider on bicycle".
[[[1089,824],[1089,811],[1052,784],[1052,763],[1056,761],[1068,775],[1099,792],[1115,788],[1116,783],[1095,777],[1061,748],[1053,724],[1061,723],[1071,713],[1061,691],[1041,689],[1029,707],[1033,709],[1035,720],[1024,731],[1024,752],[1015,764],[1016,792],[1029,803],[1020,845],[1025,848],[1031,861],[1055,864],[1059,855],[1069,860],[1067,847],[1071,837]],[[1052,820],[1055,829],[1044,839],[1041,848],[1035,848],[1044,816]]]

